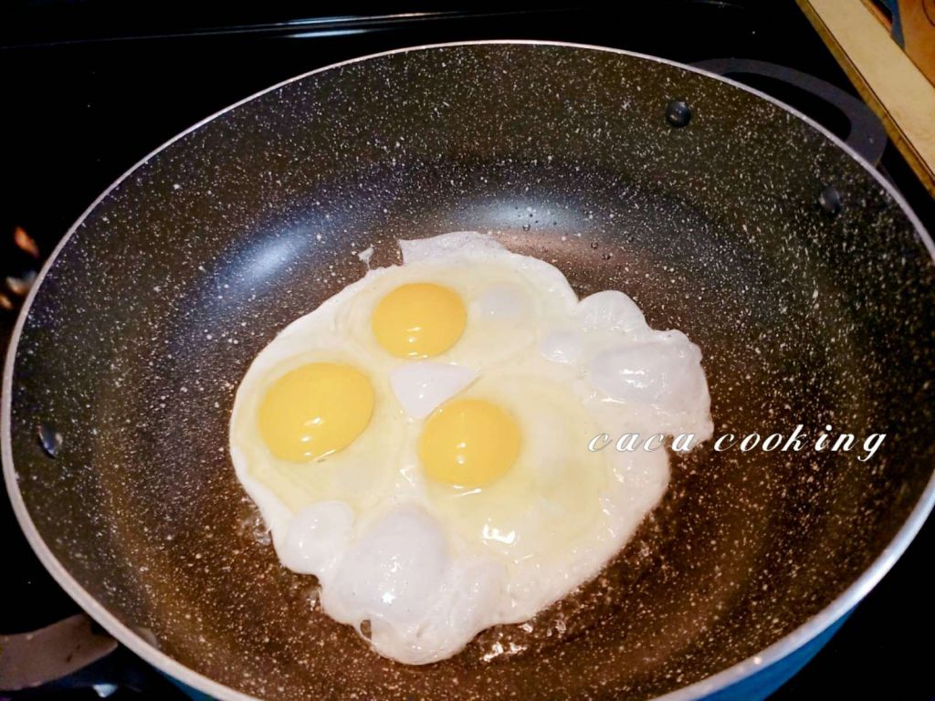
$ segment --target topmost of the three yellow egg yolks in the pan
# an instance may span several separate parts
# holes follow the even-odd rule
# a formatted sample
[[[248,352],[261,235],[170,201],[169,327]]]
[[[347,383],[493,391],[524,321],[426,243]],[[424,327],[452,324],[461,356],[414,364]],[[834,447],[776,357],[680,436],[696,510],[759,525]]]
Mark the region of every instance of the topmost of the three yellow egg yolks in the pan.
[[[427,358],[450,349],[467,321],[468,311],[457,293],[416,282],[383,297],[370,323],[377,342],[397,358]]]

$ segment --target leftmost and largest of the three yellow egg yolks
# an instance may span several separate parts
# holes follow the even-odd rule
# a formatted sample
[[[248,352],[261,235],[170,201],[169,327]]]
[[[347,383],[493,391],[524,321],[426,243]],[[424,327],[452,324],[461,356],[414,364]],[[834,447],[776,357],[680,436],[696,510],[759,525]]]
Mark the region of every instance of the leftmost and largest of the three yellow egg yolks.
[[[260,434],[278,458],[308,463],[347,448],[373,414],[373,386],[350,365],[310,363],[266,390]]]

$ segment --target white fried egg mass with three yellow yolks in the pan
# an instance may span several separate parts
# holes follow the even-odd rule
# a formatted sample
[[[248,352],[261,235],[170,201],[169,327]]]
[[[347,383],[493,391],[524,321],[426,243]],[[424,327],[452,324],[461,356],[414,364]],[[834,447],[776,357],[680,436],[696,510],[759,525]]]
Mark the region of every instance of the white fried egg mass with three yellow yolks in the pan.
[[[666,452],[594,436],[697,444],[712,421],[698,347],[626,294],[579,301],[553,265],[473,232],[400,248],[259,353],[230,446],[324,612],[424,665],[594,578],[658,503]]]

